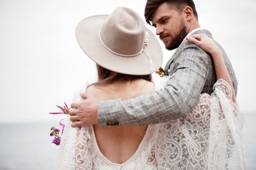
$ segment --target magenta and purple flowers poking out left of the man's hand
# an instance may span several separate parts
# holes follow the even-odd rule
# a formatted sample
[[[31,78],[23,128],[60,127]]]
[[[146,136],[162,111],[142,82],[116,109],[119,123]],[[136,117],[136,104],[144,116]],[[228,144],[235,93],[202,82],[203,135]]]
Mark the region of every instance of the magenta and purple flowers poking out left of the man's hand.
[[[49,114],[68,114],[69,109],[68,105],[64,102],[65,105],[63,105],[63,107],[61,107],[60,105],[57,105],[57,107],[62,111],[62,112],[49,112]],[[51,127],[51,136],[54,136],[54,139],[52,140],[52,143],[56,144],[57,146],[60,145],[60,141],[61,141],[61,135],[63,134],[64,128],[65,128],[65,124],[63,124],[60,120],[59,125],[61,126],[61,134],[60,134],[60,129],[55,128],[55,127]]]

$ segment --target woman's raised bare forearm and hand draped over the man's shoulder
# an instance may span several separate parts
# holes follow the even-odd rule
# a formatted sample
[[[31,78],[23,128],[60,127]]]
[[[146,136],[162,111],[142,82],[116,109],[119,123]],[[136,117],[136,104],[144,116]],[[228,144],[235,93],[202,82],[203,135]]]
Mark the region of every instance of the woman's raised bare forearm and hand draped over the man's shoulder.
[[[236,103],[236,95],[234,91],[234,87],[232,85],[232,81],[228,74],[227,67],[225,65],[225,61],[221,54],[221,50],[217,47],[217,45],[212,41],[211,38],[207,35],[191,35],[190,37],[186,38],[189,42],[195,43],[198,47],[200,47],[205,52],[211,54],[213,59],[214,68],[216,72],[217,79],[224,79],[228,82],[228,84],[232,88],[232,100]]]

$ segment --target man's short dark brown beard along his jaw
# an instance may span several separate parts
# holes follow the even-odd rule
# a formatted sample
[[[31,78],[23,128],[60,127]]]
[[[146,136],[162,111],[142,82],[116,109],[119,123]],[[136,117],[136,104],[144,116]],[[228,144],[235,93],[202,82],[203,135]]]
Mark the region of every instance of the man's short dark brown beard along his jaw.
[[[167,50],[174,50],[177,49],[180,45],[180,43],[184,40],[184,38],[186,37],[186,35],[188,35],[187,33],[187,28],[183,22],[183,20],[181,20],[180,23],[180,29],[179,29],[179,33],[174,36],[172,38],[172,41],[168,44],[166,43],[165,48]]]

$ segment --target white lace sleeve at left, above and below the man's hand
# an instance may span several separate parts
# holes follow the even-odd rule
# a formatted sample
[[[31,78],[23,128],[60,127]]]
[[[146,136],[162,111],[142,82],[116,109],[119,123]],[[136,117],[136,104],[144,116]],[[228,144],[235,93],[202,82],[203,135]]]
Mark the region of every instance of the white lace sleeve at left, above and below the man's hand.
[[[86,86],[74,93],[73,102],[81,102],[83,99],[79,93],[86,90]],[[65,130],[62,135],[58,156],[58,169],[92,169],[90,148],[91,127],[72,128],[69,116],[65,120]]]

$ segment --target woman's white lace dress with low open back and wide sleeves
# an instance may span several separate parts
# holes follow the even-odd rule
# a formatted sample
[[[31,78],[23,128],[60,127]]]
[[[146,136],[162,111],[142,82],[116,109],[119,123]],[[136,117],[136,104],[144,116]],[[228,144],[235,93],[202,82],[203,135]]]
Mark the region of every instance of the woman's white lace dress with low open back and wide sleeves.
[[[161,83],[163,86],[163,82]],[[160,89],[156,83],[156,89]],[[71,128],[67,120],[61,141],[60,169],[246,169],[242,146],[243,115],[232,103],[222,79],[214,92],[181,118],[148,125],[129,160],[115,164],[99,150],[93,126]]]

